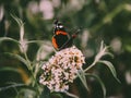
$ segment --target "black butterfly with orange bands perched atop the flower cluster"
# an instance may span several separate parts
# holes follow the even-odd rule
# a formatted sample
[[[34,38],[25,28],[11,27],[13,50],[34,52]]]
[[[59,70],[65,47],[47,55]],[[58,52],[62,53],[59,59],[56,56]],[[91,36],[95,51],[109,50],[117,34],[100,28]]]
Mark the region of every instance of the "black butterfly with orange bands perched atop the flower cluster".
[[[57,51],[69,48],[73,44],[73,39],[78,36],[80,29],[78,29],[72,36],[67,33],[66,27],[58,20],[53,23],[53,36],[52,46]]]

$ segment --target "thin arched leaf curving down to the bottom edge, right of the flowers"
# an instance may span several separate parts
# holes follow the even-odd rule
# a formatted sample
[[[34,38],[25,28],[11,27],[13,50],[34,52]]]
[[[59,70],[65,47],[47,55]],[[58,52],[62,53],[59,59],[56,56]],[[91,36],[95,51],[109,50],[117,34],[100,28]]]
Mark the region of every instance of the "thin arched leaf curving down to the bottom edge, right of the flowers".
[[[86,75],[87,76],[92,76],[92,77],[96,78],[99,82],[99,84],[102,86],[102,89],[103,89],[104,98],[106,98],[106,87],[105,87],[103,81],[97,75],[95,75],[95,74],[87,73]]]

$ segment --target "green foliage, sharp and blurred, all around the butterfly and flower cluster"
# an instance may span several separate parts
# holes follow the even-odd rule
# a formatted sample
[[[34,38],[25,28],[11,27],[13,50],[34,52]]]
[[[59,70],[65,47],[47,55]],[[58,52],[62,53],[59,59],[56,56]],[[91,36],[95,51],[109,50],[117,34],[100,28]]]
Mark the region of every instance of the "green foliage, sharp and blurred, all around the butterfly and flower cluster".
[[[46,8],[47,3],[50,8]],[[103,89],[107,97],[130,98],[130,0],[1,0],[0,97],[36,98],[41,93],[41,98],[74,96],[72,94],[80,98],[102,98]],[[71,94],[50,95],[48,88],[43,90],[38,83],[40,66],[53,53],[50,39],[55,19],[60,19],[70,34],[82,28],[74,45],[86,57],[86,64],[78,73],[79,78],[70,84]],[[110,48],[102,44],[98,49],[102,40]],[[107,49],[114,59],[107,57],[110,56]]]

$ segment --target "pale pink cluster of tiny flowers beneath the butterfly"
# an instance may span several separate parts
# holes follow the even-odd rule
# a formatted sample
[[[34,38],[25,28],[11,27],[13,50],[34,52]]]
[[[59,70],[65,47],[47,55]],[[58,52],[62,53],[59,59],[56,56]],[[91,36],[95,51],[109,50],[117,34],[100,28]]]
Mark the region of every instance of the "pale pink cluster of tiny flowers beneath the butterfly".
[[[51,91],[69,89],[78,71],[85,63],[85,57],[76,47],[66,48],[56,52],[41,69],[44,70],[39,83],[46,85]]]

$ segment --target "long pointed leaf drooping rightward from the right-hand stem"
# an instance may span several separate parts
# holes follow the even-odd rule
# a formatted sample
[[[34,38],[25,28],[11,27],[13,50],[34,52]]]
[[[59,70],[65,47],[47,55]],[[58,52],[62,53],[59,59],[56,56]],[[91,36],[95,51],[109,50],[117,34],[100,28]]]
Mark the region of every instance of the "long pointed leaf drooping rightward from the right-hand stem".
[[[107,66],[109,68],[109,70],[110,70],[110,72],[112,73],[114,77],[115,77],[119,83],[121,83],[121,82],[119,81],[119,78],[117,77],[117,72],[116,72],[116,70],[115,70],[115,68],[114,68],[114,65],[112,65],[111,62],[106,61],[106,60],[99,60],[98,62],[107,65]]]

